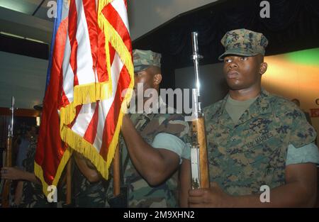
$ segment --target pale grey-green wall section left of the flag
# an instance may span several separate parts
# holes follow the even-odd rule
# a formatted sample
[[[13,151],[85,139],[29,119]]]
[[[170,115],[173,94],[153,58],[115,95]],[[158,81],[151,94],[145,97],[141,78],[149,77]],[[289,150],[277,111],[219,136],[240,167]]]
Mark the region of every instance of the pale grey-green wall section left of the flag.
[[[0,107],[33,109],[42,104],[47,76],[47,60],[0,51]]]

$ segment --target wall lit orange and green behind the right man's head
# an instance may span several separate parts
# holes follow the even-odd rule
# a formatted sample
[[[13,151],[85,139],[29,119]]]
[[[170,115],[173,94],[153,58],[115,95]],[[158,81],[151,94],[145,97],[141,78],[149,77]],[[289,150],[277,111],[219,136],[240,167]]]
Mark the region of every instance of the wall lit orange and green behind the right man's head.
[[[268,70],[262,77],[262,87],[286,99],[298,99],[301,109],[308,113],[319,109],[315,104],[319,98],[318,58],[319,48],[265,57]],[[311,122],[319,132],[319,117],[311,118]]]

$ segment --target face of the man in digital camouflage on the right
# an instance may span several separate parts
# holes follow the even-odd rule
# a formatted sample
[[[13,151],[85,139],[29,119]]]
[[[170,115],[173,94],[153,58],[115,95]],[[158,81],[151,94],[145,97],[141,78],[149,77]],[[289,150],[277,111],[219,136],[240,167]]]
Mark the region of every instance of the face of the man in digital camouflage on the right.
[[[228,55],[224,58],[223,73],[228,87],[232,90],[250,89],[260,87],[261,67],[258,56],[245,57],[240,55]]]

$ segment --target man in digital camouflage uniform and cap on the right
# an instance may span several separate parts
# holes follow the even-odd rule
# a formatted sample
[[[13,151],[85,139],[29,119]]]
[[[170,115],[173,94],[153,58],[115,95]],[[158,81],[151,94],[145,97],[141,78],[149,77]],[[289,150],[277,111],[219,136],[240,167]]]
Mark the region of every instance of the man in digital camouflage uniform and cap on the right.
[[[230,91],[204,109],[213,183],[189,192],[190,206],[311,206],[319,163],[316,133],[295,104],[261,88],[267,38],[238,29],[221,43],[225,52],[219,59]],[[267,204],[273,205],[259,200],[264,185],[271,192],[281,188],[279,198],[270,196]]]

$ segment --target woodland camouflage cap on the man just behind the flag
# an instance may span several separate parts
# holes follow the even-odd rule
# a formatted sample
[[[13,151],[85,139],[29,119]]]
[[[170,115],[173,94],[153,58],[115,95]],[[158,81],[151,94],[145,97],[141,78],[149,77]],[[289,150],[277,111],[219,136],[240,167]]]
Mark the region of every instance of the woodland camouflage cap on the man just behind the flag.
[[[151,50],[133,50],[134,72],[147,69],[150,65],[161,67],[162,55]]]

